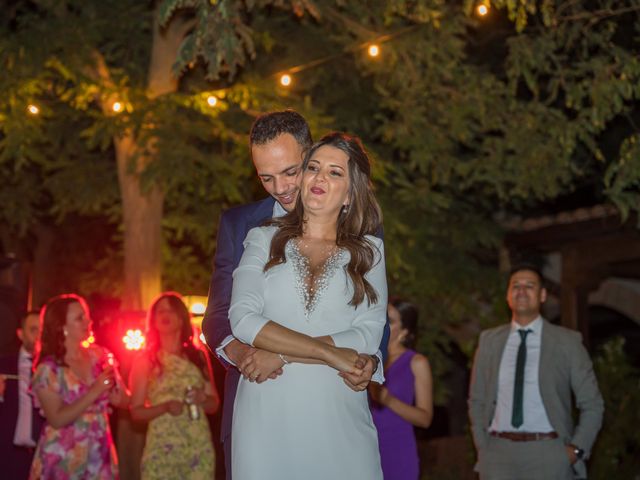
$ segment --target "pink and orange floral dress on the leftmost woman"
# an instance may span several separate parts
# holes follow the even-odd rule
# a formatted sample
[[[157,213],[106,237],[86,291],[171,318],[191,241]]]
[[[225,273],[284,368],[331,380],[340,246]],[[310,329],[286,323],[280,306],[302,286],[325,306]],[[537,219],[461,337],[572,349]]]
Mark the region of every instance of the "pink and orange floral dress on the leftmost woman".
[[[89,347],[92,381],[87,384],[71,368],[53,357],[42,359],[32,380],[32,390],[49,389],[65,404],[85,395],[102,371],[107,350]],[[30,479],[117,479],[118,460],[108,418],[109,400],[104,394],[73,423],[61,428],[45,424],[31,465]]]

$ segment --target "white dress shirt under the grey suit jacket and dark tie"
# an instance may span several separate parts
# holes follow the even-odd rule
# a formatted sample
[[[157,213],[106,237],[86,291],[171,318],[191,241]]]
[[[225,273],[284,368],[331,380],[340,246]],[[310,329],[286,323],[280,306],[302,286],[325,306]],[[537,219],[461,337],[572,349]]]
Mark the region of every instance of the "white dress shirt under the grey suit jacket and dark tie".
[[[498,372],[498,398],[489,431],[493,432],[552,432],[547,411],[542,403],[538,375],[540,371],[540,347],[542,340],[542,317],[538,316],[526,327],[511,321],[511,331],[500,360]],[[524,367],[523,412],[524,423],[515,428],[511,425],[513,410],[513,388],[516,376],[516,357],[521,337],[518,330],[531,330],[526,337],[527,359]]]

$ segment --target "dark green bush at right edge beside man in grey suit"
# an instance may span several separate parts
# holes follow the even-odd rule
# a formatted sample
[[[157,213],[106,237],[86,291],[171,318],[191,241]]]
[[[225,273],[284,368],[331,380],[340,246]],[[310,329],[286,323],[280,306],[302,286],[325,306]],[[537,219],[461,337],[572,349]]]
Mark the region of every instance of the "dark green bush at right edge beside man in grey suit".
[[[625,355],[621,337],[604,344],[594,358],[594,368],[605,412],[589,461],[589,476],[634,478],[640,471],[640,372]]]

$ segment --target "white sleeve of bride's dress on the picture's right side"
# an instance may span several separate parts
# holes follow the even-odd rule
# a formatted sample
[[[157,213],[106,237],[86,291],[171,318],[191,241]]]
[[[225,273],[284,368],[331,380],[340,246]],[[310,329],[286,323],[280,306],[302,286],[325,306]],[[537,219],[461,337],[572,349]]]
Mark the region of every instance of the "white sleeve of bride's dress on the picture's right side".
[[[374,244],[374,264],[365,278],[378,294],[378,301],[369,304],[367,297],[357,307],[356,318],[351,328],[331,335],[336,347],[352,348],[359,353],[375,354],[380,348],[384,325],[387,322],[387,274],[384,260],[384,243],[379,238],[369,237]]]

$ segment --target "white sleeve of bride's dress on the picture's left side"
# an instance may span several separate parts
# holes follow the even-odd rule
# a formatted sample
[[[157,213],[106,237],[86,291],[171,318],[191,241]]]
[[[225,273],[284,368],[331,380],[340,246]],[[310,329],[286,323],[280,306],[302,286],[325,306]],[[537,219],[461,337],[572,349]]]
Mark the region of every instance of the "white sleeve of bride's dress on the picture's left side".
[[[249,230],[244,240],[244,253],[233,272],[229,323],[233,336],[241,342],[253,345],[268,318],[262,316],[264,307],[264,266],[269,256],[271,237],[265,228]]]

